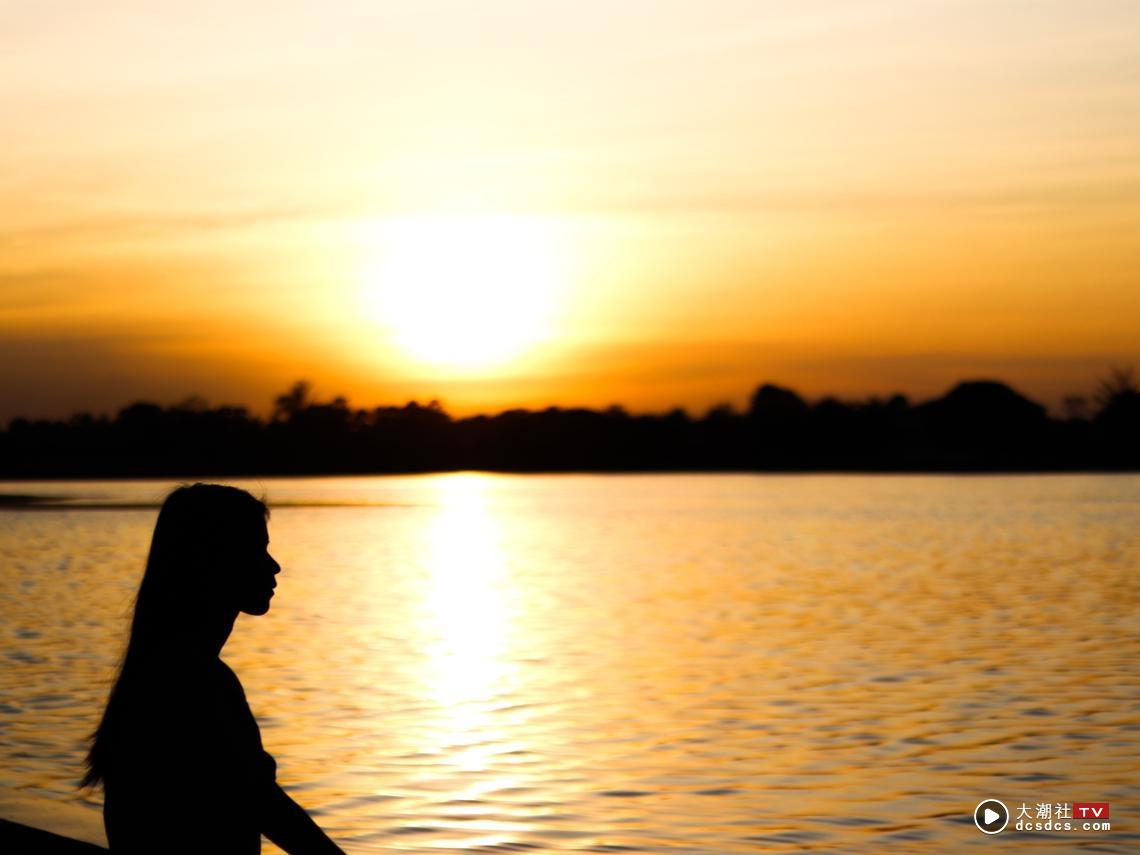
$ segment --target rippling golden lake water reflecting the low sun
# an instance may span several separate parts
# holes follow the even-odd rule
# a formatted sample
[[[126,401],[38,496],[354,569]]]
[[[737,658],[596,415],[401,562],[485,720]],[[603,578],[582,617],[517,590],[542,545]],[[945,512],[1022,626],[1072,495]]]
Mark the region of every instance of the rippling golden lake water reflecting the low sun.
[[[1140,477],[237,483],[284,572],[223,658],[351,853],[948,852],[988,797],[1112,804],[1007,846],[1140,846]],[[98,811],[171,486],[0,484],[65,497],[0,510],[0,785]]]

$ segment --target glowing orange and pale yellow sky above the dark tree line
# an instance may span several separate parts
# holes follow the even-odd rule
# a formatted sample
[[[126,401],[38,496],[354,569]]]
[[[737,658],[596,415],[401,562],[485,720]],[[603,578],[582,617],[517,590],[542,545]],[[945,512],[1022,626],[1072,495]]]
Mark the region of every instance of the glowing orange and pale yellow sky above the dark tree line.
[[[231,6],[6,7],[0,421],[1140,363],[1131,0]]]

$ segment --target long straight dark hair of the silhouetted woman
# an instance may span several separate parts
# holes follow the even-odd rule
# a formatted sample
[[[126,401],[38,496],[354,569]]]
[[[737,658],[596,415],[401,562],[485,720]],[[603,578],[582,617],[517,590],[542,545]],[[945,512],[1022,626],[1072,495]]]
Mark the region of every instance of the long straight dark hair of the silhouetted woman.
[[[116,747],[130,736],[132,714],[156,681],[194,652],[201,627],[217,614],[221,577],[235,544],[268,518],[263,502],[222,484],[179,487],[163,502],[135,598],[127,652],[91,736],[81,787],[106,780]]]

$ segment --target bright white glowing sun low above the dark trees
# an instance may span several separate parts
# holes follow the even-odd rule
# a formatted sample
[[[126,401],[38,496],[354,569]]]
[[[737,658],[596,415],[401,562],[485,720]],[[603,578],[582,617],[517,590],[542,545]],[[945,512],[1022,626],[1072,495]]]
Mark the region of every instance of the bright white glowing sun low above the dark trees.
[[[486,369],[552,333],[564,253],[540,218],[406,217],[369,227],[366,243],[368,314],[415,361]]]

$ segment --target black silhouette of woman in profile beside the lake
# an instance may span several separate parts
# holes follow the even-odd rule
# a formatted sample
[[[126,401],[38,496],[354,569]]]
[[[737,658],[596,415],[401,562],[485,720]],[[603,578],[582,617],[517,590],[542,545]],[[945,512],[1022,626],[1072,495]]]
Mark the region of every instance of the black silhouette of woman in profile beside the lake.
[[[341,853],[277,785],[242,684],[219,659],[238,612],[264,614],[280,565],[268,508],[244,490],[163,503],[131,637],[88,755],[112,853]]]

